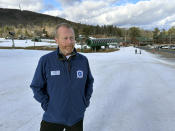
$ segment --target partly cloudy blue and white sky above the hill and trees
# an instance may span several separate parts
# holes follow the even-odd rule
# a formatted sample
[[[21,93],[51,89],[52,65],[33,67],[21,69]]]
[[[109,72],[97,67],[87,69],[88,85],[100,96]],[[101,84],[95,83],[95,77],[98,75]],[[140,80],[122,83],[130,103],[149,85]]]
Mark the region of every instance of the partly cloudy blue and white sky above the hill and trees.
[[[175,0],[0,0],[0,8],[31,10],[91,25],[168,29]]]

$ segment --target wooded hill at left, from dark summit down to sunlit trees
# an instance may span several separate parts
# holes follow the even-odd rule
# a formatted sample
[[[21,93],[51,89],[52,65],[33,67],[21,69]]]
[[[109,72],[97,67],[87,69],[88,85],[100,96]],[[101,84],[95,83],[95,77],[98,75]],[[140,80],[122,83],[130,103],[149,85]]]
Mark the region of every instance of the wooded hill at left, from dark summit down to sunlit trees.
[[[76,35],[80,29],[88,26],[32,11],[0,8],[0,37],[8,36],[9,31],[15,32],[16,36],[32,37],[45,33],[48,37],[53,37],[56,25],[62,22],[71,24]]]

